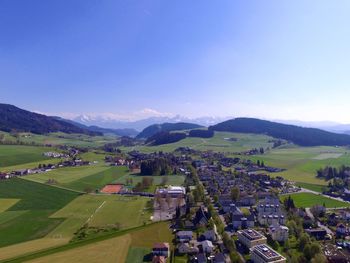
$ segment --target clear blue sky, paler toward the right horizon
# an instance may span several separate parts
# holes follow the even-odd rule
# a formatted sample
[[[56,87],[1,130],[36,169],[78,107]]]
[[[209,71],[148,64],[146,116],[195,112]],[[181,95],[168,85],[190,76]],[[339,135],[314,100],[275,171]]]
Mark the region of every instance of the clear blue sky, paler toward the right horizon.
[[[1,102],[350,122],[350,2],[2,0]]]

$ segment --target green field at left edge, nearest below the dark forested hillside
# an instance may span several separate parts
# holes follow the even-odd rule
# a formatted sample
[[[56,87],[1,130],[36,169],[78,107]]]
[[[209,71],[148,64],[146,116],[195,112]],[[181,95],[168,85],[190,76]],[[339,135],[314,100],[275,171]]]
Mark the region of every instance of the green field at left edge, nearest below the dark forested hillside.
[[[9,166],[48,160],[43,153],[49,150],[46,147],[0,145],[0,170],[7,171]]]

